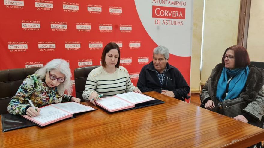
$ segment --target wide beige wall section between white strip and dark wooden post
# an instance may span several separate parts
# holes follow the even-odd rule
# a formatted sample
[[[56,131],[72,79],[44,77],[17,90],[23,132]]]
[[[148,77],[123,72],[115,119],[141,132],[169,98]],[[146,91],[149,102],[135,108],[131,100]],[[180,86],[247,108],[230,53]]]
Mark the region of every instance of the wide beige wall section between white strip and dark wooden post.
[[[221,62],[226,48],[237,44],[240,0],[206,0],[201,83]]]

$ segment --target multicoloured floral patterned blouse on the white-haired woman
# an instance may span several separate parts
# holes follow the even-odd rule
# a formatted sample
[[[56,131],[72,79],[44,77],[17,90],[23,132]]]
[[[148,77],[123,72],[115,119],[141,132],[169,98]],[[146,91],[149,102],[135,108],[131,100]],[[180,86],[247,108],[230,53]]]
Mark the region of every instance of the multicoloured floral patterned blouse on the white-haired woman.
[[[11,114],[25,115],[26,110],[31,107],[29,99],[34,106],[42,107],[54,103],[69,102],[71,97],[73,96],[66,94],[61,96],[57,87],[50,88],[38,74],[32,74],[23,81],[11,99],[7,110]]]

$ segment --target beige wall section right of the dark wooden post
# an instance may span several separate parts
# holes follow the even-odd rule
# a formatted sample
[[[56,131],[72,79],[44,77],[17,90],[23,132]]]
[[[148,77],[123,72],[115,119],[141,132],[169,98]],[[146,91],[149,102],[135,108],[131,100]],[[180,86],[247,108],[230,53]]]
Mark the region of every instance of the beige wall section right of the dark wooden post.
[[[264,1],[252,0],[247,38],[250,61],[264,62]]]

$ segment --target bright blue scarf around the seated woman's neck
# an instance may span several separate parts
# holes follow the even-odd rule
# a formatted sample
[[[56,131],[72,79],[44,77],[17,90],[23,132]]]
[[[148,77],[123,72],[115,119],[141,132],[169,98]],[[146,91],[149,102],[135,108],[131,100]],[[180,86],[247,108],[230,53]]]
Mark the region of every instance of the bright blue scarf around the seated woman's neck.
[[[231,100],[237,98],[246,84],[248,72],[249,72],[248,66],[237,68],[234,70],[230,70],[224,67],[217,84],[216,97],[218,98],[218,100],[223,101],[226,99]],[[228,76],[234,78],[229,82],[228,94],[223,99],[222,96],[224,93],[226,93]]]

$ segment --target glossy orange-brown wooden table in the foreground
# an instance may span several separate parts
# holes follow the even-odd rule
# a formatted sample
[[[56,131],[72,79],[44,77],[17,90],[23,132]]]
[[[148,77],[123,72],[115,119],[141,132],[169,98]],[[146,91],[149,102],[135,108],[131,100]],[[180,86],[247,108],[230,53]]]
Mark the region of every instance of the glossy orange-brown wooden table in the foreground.
[[[157,92],[146,94],[165,103],[114,114],[99,108],[44,128],[1,132],[0,147],[248,147],[264,140],[264,129]]]

